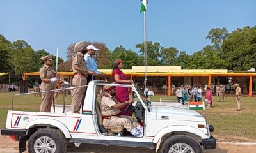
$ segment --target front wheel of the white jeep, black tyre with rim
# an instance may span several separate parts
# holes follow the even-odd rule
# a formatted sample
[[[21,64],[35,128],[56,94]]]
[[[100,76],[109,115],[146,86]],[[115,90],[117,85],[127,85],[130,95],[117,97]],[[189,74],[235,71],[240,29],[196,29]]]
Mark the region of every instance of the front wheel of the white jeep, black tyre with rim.
[[[164,140],[161,153],[202,153],[200,145],[186,135],[175,135]]]

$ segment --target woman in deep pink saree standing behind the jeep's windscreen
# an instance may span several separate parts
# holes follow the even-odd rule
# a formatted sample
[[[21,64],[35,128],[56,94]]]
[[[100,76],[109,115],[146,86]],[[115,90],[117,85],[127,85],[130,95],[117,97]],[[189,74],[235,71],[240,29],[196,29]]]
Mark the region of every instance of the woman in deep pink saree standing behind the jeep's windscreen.
[[[113,64],[113,71],[112,71],[112,77],[115,81],[115,84],[131,84],[132,80],[126,80],[125,74],[121,71],[124,64],[121,59],[115,60]],[[118,100],[120,103],[125,103],[125,101],[129,101],[129,89],[128,87],[116,87],[116,100]],[[120,115],[128,115],[131,116],[131,112],[127,111],[124,113],[125,108],[127,106],[124,106],[121,108]]]

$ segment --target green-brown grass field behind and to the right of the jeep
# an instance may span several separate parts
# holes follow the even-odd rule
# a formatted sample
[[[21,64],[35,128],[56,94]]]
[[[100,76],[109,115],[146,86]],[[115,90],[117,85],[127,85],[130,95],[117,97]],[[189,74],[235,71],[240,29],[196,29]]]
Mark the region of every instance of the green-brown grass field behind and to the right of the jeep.
[[[13,93],[0,93],[0,128],[6,124],[6,115],[12,106]],[[174,96],[152,96],[152,101],[159,98],[175,98]],[[41,98],[34,95],[15,98],[15,110],[39,111]],[[57,103],[62,104],[63,95],[58,96]],[[67,103],[70,104],[71,96],[68,94]],[[241,98],[242,111],[236,112],[236,101],[227,97],[224,102],[217,102],[218,97],[213,97],[212,108],[206,107],[207,122],[214,125],[214,135],[231,140],[234,137],[256,138],[256,98]],[[202,115],[203,111],[198,111]],[[245,140],[246,141],[246,140]]]

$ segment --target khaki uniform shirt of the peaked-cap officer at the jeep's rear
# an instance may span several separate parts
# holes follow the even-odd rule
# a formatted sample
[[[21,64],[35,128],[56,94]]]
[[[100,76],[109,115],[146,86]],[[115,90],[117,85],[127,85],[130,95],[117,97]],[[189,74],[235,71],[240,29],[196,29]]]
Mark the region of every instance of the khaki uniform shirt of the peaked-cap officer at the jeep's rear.
[[[40,73],[40,78],[54,78],[55,77],[55,71],[51,67],[44,65],[42,68],[39,70]],[[55,89],[55,82],[48,82],[48,83],[41,83],[41,89],[42,91],[49,91]]]

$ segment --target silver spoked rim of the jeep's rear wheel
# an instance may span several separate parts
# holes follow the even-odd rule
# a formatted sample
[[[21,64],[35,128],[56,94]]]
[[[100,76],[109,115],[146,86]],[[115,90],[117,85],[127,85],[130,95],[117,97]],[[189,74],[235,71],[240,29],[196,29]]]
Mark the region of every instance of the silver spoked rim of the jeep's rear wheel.
[[[34,150],[36,153],[54,153],[56,151],[56,144],[54,140],[48,136],[41,136],[36,139]]]

